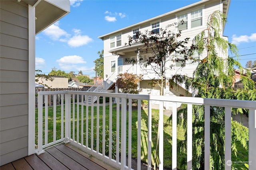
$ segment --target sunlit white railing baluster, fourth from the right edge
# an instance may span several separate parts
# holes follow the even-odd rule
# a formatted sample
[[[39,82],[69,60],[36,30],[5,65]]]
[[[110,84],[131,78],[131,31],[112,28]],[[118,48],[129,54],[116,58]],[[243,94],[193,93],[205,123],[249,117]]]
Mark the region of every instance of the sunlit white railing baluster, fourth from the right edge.
[[[192,170],[192,104],[188,104],[187,150],[187,167],[188,170]]]

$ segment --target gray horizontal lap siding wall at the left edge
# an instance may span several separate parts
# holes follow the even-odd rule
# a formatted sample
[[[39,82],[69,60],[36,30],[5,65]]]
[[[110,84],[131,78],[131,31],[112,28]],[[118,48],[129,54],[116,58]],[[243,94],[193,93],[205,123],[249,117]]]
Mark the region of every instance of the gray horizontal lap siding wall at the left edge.
[[[28,6],[0,0],[0,165],[28,155]]]

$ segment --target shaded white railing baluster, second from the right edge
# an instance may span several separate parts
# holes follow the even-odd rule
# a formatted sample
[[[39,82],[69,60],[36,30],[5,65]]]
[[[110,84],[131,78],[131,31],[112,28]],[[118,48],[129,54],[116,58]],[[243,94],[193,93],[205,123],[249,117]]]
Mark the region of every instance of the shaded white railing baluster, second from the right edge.
[[[231,170],[231,108],[225,107],[225,170]]]

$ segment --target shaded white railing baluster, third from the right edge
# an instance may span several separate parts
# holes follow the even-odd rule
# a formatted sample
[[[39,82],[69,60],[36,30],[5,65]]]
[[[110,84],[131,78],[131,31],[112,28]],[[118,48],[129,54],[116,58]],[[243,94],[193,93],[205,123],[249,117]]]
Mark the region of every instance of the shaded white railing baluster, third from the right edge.
[[[210,169],[210,106],[204,106],[204,169]]]

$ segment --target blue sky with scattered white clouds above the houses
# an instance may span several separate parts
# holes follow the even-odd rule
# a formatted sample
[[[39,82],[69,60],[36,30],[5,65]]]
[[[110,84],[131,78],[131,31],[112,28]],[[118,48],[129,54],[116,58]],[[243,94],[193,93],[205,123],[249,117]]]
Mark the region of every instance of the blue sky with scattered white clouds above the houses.
[[[99,36],[198,1],[70,0],[70,14],[36,35],[36,69],[95,76]],[[224,35],[237,45],[242,66],[256,60],[256,0],[231,0]]]

